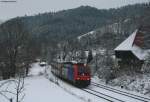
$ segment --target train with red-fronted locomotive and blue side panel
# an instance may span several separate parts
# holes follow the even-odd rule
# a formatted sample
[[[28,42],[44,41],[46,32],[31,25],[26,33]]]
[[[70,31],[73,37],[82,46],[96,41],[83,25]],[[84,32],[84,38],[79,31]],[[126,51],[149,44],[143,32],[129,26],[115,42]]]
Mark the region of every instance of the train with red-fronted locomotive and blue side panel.
[[[51,72],[77,87],[87,87],[91,83],[90,68],[87,64],[77,62],[53,63]]]

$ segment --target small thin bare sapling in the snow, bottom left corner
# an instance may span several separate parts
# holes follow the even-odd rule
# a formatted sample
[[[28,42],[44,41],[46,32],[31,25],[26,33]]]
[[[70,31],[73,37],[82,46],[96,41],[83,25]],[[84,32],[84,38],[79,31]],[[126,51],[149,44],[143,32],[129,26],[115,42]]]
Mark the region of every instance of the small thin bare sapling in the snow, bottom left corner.
[[[24,77],[21,75],[17,79],[7,80],[0,84],[0,96],[9,102],[22,102],[25,97],[24,90]]]

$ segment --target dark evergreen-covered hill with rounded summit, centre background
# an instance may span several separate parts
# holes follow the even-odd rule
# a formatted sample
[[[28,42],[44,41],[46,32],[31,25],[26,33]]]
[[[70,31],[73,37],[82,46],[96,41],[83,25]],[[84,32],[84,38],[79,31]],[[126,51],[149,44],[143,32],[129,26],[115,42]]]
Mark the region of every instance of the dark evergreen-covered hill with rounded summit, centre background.
[[[32,34],[40,37],[68,39],[111,23],[108,21],[111,16],[107,10],[81,6],[76,9],[44,13],[21,19],[32,31]]]

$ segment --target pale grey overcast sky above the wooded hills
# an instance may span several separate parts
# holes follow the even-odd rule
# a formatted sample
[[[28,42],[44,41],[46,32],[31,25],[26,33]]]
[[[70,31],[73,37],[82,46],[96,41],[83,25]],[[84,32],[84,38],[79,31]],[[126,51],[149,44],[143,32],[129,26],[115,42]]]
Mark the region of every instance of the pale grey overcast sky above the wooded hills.
[[[1,1],[1,0],[0,0]],[[16,16],[34,15],[89,5],[99,9],[117,8],[127,4],[143,3],[150,0],[16,0],[16,3],[0,2],[0,20]]]

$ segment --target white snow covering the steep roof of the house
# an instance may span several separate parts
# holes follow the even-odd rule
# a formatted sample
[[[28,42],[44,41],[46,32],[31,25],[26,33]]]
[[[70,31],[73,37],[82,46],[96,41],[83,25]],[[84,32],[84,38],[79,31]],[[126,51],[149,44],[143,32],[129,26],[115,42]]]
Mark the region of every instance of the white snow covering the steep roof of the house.
[[[138,59],[146,60],[148,50],[143,50],[139,46],[133,44],[138,30],[135,30],[125,41],[115,48],[115,51],[131,51]]]

